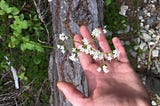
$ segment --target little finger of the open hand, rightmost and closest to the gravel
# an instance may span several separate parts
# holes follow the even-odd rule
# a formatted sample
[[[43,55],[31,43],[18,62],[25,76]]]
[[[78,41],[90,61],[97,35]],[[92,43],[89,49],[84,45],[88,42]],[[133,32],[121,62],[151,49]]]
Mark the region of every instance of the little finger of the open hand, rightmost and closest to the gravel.
[[[121,62],[128,62],[128,57],[127,57],[126,51],[125,51],[121,41],[117,37],[114,37],[112,39],[112,42],[113,42],[116,50],[118,50],[120,52],[118,60]]]

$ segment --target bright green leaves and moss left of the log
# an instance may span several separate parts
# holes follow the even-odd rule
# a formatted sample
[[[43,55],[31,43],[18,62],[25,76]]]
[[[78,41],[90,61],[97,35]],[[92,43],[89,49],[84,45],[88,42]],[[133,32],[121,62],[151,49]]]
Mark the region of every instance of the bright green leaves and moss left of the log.
[[[24,4],[22,1],[18,3]],[[32,92],[37,95],[42,82],[48,77],[48,49],[38,42],[40,39],[46,41],[46,32],[35,10],[23,11],[22,5],[0,0],[0,77],[10,70],[4,58],[7,56],[11,65],[17,69],[21,85],[25,87],[34,81]],[[7,92],[4,83],[0,81],[2,93]],[[28,92],[24,92],[22,97],[25,99],[24,105],[34,103],[33,95]],[[44,104],[48,103],[46,98],[46,95],[42,97]]]

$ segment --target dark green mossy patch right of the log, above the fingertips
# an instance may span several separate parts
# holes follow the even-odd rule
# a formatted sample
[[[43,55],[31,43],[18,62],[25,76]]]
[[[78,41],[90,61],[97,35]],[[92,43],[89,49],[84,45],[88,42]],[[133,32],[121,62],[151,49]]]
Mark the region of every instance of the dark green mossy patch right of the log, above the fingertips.
[[[104,2],[105,25],[107,25],[109,31],[117,34],[117,31],[124,30],[127,27],[128,21],[126,17],[119,14],[121,4],[117,0],[104,0]]]

